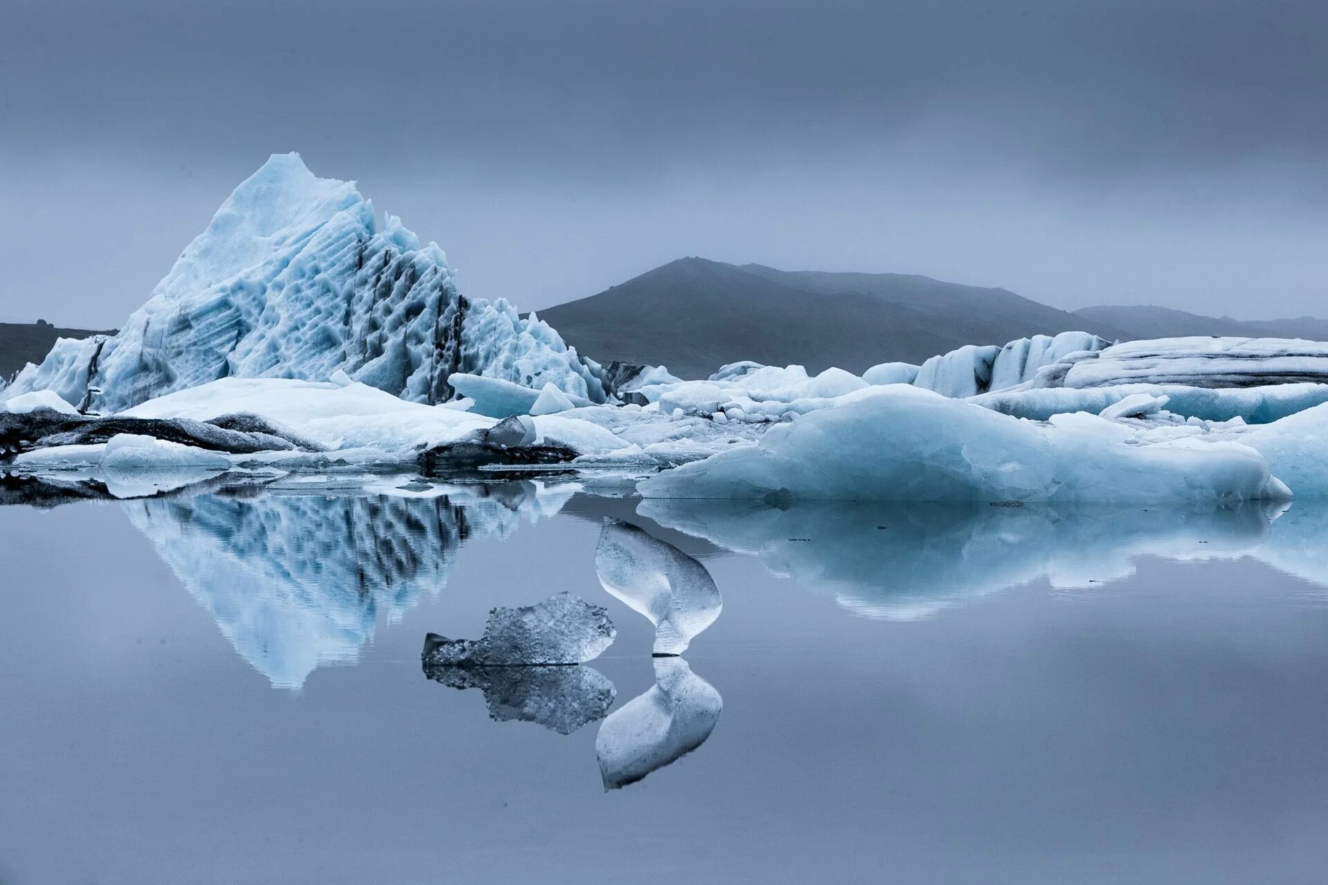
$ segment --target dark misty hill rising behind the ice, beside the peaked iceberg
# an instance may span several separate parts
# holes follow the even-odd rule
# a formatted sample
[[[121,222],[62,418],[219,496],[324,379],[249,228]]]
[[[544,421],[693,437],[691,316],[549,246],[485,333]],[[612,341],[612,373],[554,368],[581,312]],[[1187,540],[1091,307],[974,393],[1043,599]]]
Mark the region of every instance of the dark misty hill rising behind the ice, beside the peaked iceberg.
[[[600,362],[667,365],[705,377],[725,362],[801,364],[863,372],[965,344],[1029,334],[1123,332],[1005,289],[900,273],[777,271],[679,259],[639,277],[539,310],[563,338]]]

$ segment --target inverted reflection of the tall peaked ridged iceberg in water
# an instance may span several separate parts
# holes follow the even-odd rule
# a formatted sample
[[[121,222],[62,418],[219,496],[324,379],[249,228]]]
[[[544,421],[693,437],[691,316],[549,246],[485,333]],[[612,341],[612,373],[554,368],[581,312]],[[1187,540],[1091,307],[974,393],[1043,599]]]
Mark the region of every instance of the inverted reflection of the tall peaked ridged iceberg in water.
[[[467,537],[506,537],[572,494],[414,483],[331,495],[308,478],[297,490],[232,491],[122,507],[235,651],[287,689],[355,661],[380,616],[397,620],[421,593],[437,593]]]

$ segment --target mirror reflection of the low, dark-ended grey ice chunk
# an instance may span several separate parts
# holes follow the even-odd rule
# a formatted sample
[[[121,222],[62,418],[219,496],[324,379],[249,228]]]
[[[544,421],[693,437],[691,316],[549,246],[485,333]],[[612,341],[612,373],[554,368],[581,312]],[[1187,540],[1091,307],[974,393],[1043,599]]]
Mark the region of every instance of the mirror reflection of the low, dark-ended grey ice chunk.
[[[425,665],[424,673],[453,689],[483,691],[489,716],[495,722],[535,722],[564,735],[603,719],[618,695],[599,670],[583,666]]]

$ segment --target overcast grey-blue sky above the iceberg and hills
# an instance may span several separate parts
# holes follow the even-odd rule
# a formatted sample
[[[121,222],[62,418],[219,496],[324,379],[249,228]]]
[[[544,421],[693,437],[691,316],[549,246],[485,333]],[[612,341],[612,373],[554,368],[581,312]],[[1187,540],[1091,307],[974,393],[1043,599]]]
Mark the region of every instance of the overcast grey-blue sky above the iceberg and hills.
[[[1321,0],[5,0],[0,318],[114,325],[274,151],[463,291],[701,255],[1328,314]]]

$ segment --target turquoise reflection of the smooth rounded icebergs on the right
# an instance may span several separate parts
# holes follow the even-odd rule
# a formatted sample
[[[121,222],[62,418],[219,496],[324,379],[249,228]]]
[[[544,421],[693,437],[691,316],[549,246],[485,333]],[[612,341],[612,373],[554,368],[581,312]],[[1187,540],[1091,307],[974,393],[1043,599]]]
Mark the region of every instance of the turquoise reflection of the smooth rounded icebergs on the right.
[[[915,620],[1045,579],[1089,588],[1137,556],[1255,556],[1328,585],[1328,512],[1216,508],[643,500],[659,524],[756,556],[863,617]]]

